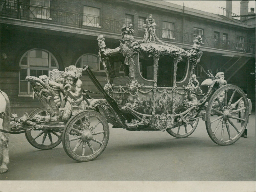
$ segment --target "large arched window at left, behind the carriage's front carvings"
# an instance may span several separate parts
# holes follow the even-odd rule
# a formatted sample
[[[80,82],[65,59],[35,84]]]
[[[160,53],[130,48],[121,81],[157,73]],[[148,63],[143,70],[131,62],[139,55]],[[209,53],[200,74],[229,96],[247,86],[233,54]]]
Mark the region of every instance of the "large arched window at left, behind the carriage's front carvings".
[[[32,95],[32,86],[25,80],[26,76],[48,76],[49,71],[59,68],[56,58],[44,49],[31,49],[24,53],[19,66],[19,96]]]

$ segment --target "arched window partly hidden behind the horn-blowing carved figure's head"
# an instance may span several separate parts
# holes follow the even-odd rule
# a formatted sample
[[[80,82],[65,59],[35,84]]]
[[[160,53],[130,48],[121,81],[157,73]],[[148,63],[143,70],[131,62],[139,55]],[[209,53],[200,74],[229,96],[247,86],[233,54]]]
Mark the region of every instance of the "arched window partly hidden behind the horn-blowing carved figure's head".
[[[76,67],[83,68],[88,65],[92,71],[104,71],[104,66],[100,63],[99,57],[94,54],[84,54],[76,61]]]

